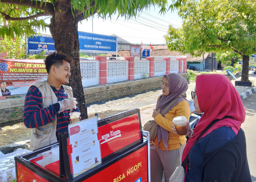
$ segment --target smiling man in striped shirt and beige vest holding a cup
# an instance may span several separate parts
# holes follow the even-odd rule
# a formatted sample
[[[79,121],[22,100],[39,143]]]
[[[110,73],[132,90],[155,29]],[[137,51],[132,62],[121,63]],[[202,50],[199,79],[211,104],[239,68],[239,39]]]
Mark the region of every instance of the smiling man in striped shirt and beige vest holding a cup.
[[[48,55],[47,81],[31,86],[24,104],[23,122],[31,128],[30,150],[57,142],[60,132],[68,131],[69,113],[79,112],[69,83],[71,60],[54,52]]]

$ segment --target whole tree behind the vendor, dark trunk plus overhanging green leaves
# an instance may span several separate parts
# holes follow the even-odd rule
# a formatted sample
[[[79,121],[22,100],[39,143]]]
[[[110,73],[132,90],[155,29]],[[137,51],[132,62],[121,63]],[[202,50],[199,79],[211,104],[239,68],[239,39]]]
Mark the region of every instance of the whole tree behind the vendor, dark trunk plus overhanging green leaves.
[[[78,22],[93,16],[102,18],[118,16],[130,18],[144,8],[160,7],[160,12],[178,7],[182,0],[0,0],[0,36],[36,35],[39,29],[49,27],[55,42],[55,49],[71,59],[69,85],[77,98],[82,119],[87,118],[80,63]],[[45,19],[50,18],[46,24]]]

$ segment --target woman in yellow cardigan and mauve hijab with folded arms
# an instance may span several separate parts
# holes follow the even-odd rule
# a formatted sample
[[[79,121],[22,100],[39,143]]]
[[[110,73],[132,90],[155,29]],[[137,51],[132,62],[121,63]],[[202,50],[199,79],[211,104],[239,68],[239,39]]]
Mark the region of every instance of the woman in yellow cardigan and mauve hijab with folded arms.
[[[177,135],[172,131],[172,120],[177,116],[185,116],[189,120],[190,108],[188,100],[184,97],[188,89],[187,80],[176,73],[163,75],[163,94],[157,100],[156,109],[152,117],[158,124],[157,137],[150,143],[150,168],[151,181],[161,182],[163,171],[165,182],[173,174],[177,166],[181,165],[182,152],[186,144],[185,135]],[[161,115],[172,100],[178,98],[170,109]]]

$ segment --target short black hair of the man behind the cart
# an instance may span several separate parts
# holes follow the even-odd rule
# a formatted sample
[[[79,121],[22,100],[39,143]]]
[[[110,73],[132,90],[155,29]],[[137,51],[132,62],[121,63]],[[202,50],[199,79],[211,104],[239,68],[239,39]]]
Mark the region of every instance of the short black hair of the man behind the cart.
[[[59,54],[59,53],[53,52],[52,54],[48,55],[44,60],[47,73],[49,74],[50,68],[53,65],[56,67],[63,65],[62,60],[66,60],[68,63],[72,62],[70,59],[68,59],[67,55],[65,54]]]

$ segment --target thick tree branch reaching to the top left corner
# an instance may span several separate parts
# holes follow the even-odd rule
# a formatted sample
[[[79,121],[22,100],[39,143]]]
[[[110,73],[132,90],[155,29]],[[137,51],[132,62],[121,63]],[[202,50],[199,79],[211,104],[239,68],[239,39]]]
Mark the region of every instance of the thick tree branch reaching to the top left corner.
[[[44,11],[48,11],[51,14],[53,14],[54,12],[54,7],[52,5],[52,3],[43,3],[42,6],[40,7],[40,3],[41,1],[35,1],[35,0],[1,0],[1,3],[4,4],[16,4],[16,5],[20,5],[20,6],[27,6],[27,7],[31,7],[31,8],[36,8],[36,9],[41,9]]]

